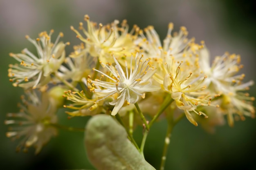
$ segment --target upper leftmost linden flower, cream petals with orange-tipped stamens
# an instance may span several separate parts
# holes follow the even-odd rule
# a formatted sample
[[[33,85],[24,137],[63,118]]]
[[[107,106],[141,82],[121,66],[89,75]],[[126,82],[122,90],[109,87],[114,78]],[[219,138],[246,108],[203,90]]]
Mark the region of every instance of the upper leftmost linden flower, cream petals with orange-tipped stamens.
[[[63,33],[60,33],[53,44],[51,42],[51,35],[54,31],[51,30],[49,35],[46,32],[39,33],[39,38],[36,40],[28,39],[37,50],[37,55],[30,52],[27,48],[22,50],[22,53],[13,54],[10,56],[20,62],[20,65],[9,65],[8,76],[11,77],[10,81],[14,82],[13,86],[20,86],[24,88],[41,87],[50,81],[50,74],[58,70],[60,65],[65,59],[65,46],[59,42]]]

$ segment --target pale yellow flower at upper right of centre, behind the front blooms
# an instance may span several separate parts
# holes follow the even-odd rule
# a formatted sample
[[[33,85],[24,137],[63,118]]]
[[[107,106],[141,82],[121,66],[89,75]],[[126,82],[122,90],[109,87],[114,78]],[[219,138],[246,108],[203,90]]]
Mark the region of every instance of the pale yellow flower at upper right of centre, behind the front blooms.
[[[166,70],[164,65],[166,65],[166,63],[171,65],[169,62],[172,62],[170,61],[172,58],[179,61],[184,60],[186,65],[191,65],[191,68],[193,68],[193,66],[198,68],[198,56],[203,45],[195,44],[194,38],[187,38],[188,31],[186,27],[182,26],[179,33],[175,32],[172,35],[173,23],[170,23],[168,25],[167,36],[163,41],[163,46],[153,26],[148,26],[144,31],[146,37],[142,31],[139,32],[142,37],[139,46],[157,63],[155,65],[155,67],[157,67],[157,73],[154,75],[154,79],[158,83],[162,84],[165,75],[169,74],[170,71]],[[176,69],[177,66],[178,65],[174,65],[174,68]],[[193,73],[195,75],[200,72],[198,69],[194,69]]]

